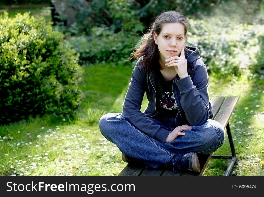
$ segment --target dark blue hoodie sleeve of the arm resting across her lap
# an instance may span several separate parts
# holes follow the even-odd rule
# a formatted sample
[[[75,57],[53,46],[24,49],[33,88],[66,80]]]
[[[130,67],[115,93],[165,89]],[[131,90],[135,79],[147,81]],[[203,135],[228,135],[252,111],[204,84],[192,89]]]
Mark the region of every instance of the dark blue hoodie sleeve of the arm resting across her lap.
[[[147,136],[164,143],[170,131],[161,128],[161,126],[146,118],[145,114],[140,111],[146,88],[145,69],[140,69],[136,65],[125,95],[122,116]]]

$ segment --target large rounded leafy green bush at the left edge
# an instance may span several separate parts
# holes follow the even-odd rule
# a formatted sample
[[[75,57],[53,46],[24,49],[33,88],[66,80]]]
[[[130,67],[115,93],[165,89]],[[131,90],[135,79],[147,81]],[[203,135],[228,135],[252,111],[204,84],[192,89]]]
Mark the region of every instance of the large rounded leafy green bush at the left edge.
[[[81,91],[78,54],[43,18],[0,19],[0,124],[29,115],[73,115]]]

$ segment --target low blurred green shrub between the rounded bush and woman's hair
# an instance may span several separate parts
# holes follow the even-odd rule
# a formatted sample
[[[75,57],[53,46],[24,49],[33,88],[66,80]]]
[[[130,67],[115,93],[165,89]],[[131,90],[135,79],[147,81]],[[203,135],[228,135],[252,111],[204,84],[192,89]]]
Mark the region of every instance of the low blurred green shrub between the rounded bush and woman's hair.
[[[106,28],[93,28],[91,36],[70,37],[69,42],[79,52],[81,61],[89,63],[128,60],[139,35]]]

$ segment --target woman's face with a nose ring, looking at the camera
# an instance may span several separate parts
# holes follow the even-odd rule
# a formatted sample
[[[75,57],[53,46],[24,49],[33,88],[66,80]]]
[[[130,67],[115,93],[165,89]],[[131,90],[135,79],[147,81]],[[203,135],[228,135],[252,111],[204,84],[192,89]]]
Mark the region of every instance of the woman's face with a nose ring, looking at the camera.
[[[160,34],[154,32],[154,40],[160,52],[160,62],[172,56],[179,56],[187,36],[184,36],[182,23],[163,23]]]

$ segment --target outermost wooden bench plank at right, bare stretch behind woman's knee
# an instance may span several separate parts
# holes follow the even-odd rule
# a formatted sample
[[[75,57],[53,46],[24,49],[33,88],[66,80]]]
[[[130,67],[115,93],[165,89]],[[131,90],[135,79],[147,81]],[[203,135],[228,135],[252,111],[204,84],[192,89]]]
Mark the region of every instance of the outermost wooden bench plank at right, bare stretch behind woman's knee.
[[[223,104],[221,105],[221,108],[219,109],[218,113],[216,114],[214,120],[218,121],[222,126],[225,128],[232,112],[235,109],[236,103],[238,102],[238,96],[235,97],[227,97]]]

